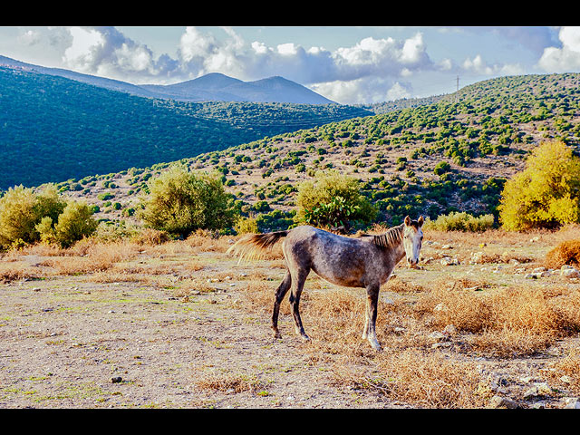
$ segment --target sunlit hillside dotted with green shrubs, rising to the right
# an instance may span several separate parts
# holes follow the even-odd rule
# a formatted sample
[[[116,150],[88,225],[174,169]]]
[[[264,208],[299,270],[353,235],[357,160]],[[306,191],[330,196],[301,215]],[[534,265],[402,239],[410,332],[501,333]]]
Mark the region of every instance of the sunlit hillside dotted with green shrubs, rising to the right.
[[[361,179],[388,224],[405,214],[496,213],[503,182],[538,143],[564,140],[578,150],[579,108],[580,74],[503,77],[437,103],[282,133],[181,164],[221,171],[237,207],[257,216],[262,230],[287,227],[297,185],[328,169]],[[148,180],[169,164],[59,187],[99,206],[101,218],[131,219]]]

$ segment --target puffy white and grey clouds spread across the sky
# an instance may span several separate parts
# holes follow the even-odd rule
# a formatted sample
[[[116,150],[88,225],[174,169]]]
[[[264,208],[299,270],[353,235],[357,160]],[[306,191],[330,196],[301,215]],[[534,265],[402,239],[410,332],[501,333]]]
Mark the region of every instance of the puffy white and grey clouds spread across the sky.
[[[411,83],[421,73],[525,73],[517,63],[487,63],[477,53],[463,60],[434,61],[420,31],[401,39],[366,37],[331,51],[296,43],[268,46],[260,41],[245,41],[231,28],[223,30],[227,37],[218,39],[197,27],[187,27],[175,54],[159,56],[146,44],[131,40],[114,27],[26,30],[20,39],[28,45],[44,41],[53,49],[58,47],[63,67],[81,73],[159,84],[183,82],[206,73],[224,73],[244,81],[281,75],[343,103],[411,97]],[[545,29],[505,28],[495,32],[509,34],[513,41],[527,43],[537,53],[542,53],[541,46],[545,47],[548,40]],[[545,48],[538,66],[547,72],[580,68],[578,28],[562,28],[559,40],[562,47]]]

